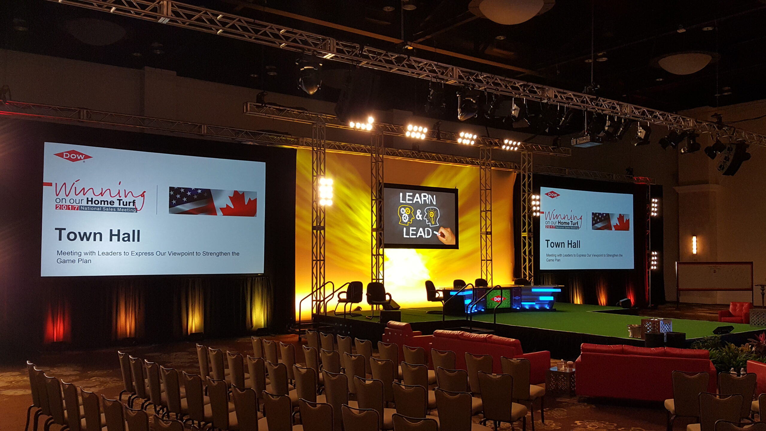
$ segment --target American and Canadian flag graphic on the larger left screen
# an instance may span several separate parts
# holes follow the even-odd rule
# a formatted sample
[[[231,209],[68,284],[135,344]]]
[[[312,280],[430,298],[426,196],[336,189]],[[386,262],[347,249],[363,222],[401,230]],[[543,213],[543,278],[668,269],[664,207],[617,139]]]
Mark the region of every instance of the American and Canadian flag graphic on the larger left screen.
[[[257,193],[239,190],[169,187],[168,212],[197,216],[255,217]]]

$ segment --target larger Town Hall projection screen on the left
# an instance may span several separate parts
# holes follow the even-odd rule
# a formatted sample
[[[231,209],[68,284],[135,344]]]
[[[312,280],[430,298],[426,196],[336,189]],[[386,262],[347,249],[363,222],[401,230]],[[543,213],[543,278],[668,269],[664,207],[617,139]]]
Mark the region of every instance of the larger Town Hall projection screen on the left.
[[[264,272],[266,163],[45,143],[41,275]]]

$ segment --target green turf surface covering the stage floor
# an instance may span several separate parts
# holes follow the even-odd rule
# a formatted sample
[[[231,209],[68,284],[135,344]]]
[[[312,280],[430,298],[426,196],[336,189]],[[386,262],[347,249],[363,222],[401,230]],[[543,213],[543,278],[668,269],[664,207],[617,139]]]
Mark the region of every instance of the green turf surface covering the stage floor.
[[[641,316],[628,316],[624,314],[597,313],[600,310],[617,310],[616,307],[601,307],[599,305],[556,303],[556,311],[516,311],[497,314],[497,323],[515,326],[538,327],[555,331],[578,332],[581,334],[604,335],[607,337],[628,338],[627,324],[640,324]],[[402,308],[401,320],[408,323],[440,321],[441,314],[427,314],[429,310],[440,310],[440,307],[429,308]],[[348,317],[352,319],[369,321],[364,316],[370,315],[370,311],[362,311],[363,316]],[[463,317],[450,317],[449,320],[460,320]],[[377,318],[375,319],[377,320]],[[474,321],[492,322],[492,314],[476,314]],[[729,325],[729,324],[725,324]],[[754,331],[760,327],[751,327],[749,324],[730,324],[734,327],[732,333]],[[685,332],[686,338],[699,338],[712,335],[713,329],[722,326],[719,322],[690,321],[673,319],[673,331]]]

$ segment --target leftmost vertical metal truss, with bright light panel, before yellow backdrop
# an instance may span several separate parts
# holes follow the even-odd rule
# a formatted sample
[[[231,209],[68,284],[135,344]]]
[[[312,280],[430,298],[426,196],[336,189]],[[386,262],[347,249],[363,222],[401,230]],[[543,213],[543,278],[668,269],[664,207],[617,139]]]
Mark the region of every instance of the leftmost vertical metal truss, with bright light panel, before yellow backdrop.
[[[313,312],[322,311],[325,285],[325,206],[319,205],[319,179],[325,176],[325,125],[311,128],[311,291]],[[320,289],[321,287],[321,289]]]

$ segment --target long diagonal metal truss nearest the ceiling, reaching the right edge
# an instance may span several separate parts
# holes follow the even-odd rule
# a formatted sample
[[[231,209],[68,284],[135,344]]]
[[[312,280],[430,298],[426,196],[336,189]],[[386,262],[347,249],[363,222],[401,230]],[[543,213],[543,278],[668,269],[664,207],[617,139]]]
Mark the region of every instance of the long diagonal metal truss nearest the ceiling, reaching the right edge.
[[[474,87],[490,93],[523,97],[563,107],[647,121],[676,129],[692,129],[696,130],[697,133],[712,133],[717,137],[728,137],[732,140],[744,140],[746,143],[766,146],[766,136],[723,124],[696,120],[589,94],[532,84],[423,58],[414,58],[172,0],[49,1],[203,31],[211,35],[251,41],[287,51],[313,54],[328,60],[356,64],[361,67],[370,67],[379,71],[417,77],[428,81]]]

